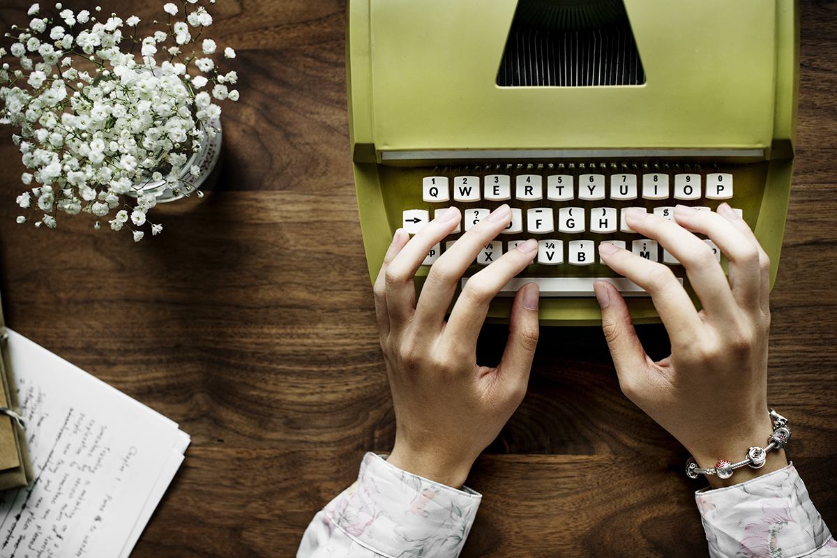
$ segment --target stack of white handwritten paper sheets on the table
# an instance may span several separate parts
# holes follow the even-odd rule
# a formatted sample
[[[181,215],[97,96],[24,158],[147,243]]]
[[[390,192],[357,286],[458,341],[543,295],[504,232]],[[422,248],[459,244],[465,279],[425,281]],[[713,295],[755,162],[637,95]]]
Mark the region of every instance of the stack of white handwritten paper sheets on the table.
[[[0,556],[127,557],[190,438],[8,330],[34,480],[0,493]]]

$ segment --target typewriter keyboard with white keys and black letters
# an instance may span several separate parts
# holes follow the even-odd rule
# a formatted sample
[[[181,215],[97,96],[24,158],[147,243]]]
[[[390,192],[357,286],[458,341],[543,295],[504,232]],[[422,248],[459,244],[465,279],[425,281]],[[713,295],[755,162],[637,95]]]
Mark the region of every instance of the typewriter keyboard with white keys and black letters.
[[[537,238],[532,264],[506,285],[500,296],[513,296],[527,282],[540,284],[542,297],[594,296],[593,282],[607,279],[626,296],[646,296],[619,277],[598,257],[599,243],[614,243],[639,256],[672,266],[679,262],[655,240],[642,238],[625,223],[625,211],[639,207],[673,218],[676,204],[713,211],[727,201],[737,208],[737,166],[694,164],[515,164],[412,169],[411,195],[405,197],[402,226],[418,233],[444,209],[460,207],[463,219],[449,238],[424,259],[432,266],[462,233],[502,203],[511,206],[511,222],[475,260],[470,274],[496,261],[526,238]],[[746,181],[744,181],[746,182]],[[419,197],[420,192],[420,197]],[[420,202],[419,202],[420,199]],[[408,205],[412,203],[412,205]],[[711,240],[704,240],[721,261]],[[462,284],[467,277],[462,279]]]

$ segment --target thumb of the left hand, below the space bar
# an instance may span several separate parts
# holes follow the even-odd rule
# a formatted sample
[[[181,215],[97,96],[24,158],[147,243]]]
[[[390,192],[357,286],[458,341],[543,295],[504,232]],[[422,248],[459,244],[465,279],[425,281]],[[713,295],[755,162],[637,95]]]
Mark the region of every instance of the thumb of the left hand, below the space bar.
[[[509,339],[506,341],[506,350],[503,351],[500,366],[497,366],[504,389],[515,394],[517,404],[520,404],[526,395],[531,361],[535,358],[539,335],[537,308],[540,296],[540,289],[534,283],[527,283],[517,291],[515,302],[511,305]]]

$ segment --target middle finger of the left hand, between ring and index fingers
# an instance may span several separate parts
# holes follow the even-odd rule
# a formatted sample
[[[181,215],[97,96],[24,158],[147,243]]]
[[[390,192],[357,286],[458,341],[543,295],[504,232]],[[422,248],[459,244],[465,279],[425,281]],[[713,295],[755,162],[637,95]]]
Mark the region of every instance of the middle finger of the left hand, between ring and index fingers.
[[[506,228],[510,220],[509,207],[506,204],[497,207],[434,262],[424,280],[422,295],[416,307],[415,320],[419,330],[429,335],[438,334],[462,274],[474,262],[480,250]]]

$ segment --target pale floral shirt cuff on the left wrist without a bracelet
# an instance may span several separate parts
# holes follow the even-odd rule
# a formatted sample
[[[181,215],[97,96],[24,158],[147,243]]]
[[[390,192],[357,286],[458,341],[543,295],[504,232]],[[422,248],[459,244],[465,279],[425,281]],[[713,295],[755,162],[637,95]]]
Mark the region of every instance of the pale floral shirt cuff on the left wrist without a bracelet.
[[[308,525],[296,556],[455,558],[480,499],[471,489],[434,483],[367,453],[357,481]]]

